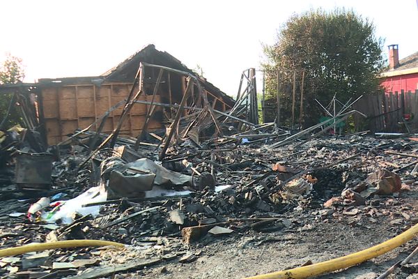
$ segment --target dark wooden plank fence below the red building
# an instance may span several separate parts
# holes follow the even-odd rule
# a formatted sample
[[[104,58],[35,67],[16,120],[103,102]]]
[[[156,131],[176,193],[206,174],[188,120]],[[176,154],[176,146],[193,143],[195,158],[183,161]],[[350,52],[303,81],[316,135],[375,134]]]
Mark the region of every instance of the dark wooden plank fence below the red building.
[[[418,89],[365,95],[354,108],[367,116],[355,115],[356,130],[406,133],[406,123],[410,133],[418,131]]]

